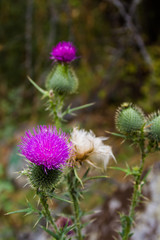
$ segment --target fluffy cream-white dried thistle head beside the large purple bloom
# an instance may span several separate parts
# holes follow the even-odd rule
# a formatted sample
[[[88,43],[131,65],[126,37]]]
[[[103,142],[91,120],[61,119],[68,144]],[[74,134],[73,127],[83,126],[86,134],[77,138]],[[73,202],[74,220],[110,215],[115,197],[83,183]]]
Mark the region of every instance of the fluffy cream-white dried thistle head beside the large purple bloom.
[[[107,139],[106,137],[96,137],[91,130],[87,132],[84,129],[73,128],[71,142],[74,145],[74,161],[80,164],[86,161],[94,167],[97,167],[95,163],[102,162],[106,169],[110,157],[115,160],[112,148],[103,143]]]

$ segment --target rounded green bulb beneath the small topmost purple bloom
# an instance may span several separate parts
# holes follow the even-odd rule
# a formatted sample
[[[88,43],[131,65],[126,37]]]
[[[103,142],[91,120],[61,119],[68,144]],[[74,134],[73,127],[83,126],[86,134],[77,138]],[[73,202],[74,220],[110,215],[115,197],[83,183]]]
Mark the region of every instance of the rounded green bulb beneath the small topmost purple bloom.
[[[72,94],[78,88],[78,79],[67,63],[57,63],[46,79],[46,88],[58,94]]]

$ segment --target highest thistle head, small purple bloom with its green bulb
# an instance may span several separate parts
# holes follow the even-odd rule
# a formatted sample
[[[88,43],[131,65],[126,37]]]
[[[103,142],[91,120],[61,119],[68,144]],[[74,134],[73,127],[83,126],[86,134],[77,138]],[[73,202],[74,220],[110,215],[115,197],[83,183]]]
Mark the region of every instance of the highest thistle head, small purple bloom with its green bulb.
[[[50,59],[55,66],[46,79],[48,90],[64,95],[76,92],[78,79],[70,66],[76,58],[76,48],[71,42],[60,42],[53,47]]]

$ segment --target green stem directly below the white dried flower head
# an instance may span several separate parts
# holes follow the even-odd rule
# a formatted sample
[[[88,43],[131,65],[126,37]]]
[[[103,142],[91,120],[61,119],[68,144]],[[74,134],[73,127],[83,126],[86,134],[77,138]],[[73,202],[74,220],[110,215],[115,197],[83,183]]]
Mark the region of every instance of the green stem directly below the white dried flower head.
[[[68,174],[68,187],[69,187],[69,193],[70,197],[73,202],[73,209],[74,209],[74,216],[75,216],[75,222],[77,227],[77,239],[82,240],[82,234],[81,234],[81,222],[80,222],[80,206],[79,206],[79,199],[78,199],[78,184],[77,179],[75,176],[74,169],[72,169]]]

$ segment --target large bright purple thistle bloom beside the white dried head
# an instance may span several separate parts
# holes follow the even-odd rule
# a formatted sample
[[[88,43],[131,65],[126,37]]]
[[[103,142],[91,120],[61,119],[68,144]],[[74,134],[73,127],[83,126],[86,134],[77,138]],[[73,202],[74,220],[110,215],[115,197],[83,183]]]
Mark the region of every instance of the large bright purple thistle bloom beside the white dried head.
[[[67,165],[72,144],[64,132],[57,132],[56,127],[38,126],[33,128],[33,134],[28,130],[22,137],[19,152],[44,169],[60,169]]]

